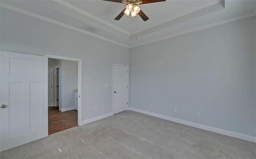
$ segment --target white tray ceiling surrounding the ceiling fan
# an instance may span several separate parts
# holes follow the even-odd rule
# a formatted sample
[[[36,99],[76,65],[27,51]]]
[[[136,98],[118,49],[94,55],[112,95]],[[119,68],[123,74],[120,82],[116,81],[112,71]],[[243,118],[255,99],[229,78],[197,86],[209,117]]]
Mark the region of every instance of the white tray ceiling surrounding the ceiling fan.
[[[135,47],[255,15],[256,0],[166,0],[139,5],[150,18],[114,18],[125,4],[102,0],[1,0],[1,7],[46,19],[106,41]],[[102,29],[80,30],[84,24]],[[140,38],[140,40],[136,40]]]

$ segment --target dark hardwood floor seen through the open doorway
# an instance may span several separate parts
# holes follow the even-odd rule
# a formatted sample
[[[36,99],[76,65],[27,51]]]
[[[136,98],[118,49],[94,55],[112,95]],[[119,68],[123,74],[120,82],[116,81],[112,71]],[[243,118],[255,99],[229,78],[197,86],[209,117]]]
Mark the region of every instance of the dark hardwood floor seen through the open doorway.
[[[78,126],[77,110],[60,112],[59,107],[48,107],[48,134]]]

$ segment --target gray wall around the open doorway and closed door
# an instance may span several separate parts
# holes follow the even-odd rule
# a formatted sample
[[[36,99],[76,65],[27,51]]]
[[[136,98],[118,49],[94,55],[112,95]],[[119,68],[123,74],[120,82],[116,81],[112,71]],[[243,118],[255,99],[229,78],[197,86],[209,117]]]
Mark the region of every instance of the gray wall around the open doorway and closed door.
[[[128,48],[4,8],[0,21],[1,51],[82,59],[82,120],[112,112],[112,64],[129,65]]]

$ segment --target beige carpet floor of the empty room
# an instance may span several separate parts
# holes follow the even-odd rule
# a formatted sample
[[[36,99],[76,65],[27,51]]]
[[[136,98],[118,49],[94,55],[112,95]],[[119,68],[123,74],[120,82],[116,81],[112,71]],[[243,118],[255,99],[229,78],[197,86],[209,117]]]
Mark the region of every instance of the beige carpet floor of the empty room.
[[[255,159],[256,143],[126,111],[0,153],[1,159]]]

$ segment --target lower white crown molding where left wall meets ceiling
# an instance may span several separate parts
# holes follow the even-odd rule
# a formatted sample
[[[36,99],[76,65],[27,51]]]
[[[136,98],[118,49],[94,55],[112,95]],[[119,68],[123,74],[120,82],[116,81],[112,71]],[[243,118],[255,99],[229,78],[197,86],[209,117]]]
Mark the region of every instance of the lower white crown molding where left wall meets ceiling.
[[[114,40],[108,39],[108,38],[106,38],[106,37],[102,37],[102,36],[100,36],[100,35],[96,35],[96,34],[91,33],[91,32],[89,32],[89,31],[85,31],[85,30],[79,29],[79,28],[77,28],[77,27],[73,27],[73,26],[64,24],[64,23],[62,23],[62,22],[58,22],[58,21],[56,21],[56,20],[52,20],[52,19],[50,19],[50,18],[47,18],[47,17],[44,17],[44,16],[40,16],[40,15],[38,15],[38,14],[35,14],[35,13],[29,12],[29,11],[27,11],[27,10],[23,10],[23,9],[20,9],[20,8],[17,8],[17,7],[14,7],[14,6],[11,6],[11,5],[9,5],[9,4],[5,4],[5,3],[2,3],[2,2],[1,2],[1,3],[0,3],[0,7],[3,7],[3,8],[8,9],[8,10],[12,10],[12,11],[14,11],[14,12],[18,12],[18,13],[21,13],[21,14],[25,14],[25,15],[31,16],[31,17],[33,17],[33,18],[37,18],[37,19],[40,19],[40,20],[44,20],[44,21],[46,21],[46,22],[50,22],[50,23],[56,24],[56,25],[58,25],[58,26],[66,27],[66,28],[68,28],[68,29],[72,29],[72,30],[74,30],[74,31],[78,31],[78,32],[80,32],[80,33],[84,33],[84,34],[86,34],[86,35],[90,35],[90,36],[92,36],[92,37],[96,37],[96,38],[98,38],[98,39],[102,39],[102,40],[104,40],[104,41],[108,41],[108,42],[111,42],[111,43],[114,43],[114,44],[117,44],[117,45],[120,45],[120,46],[123,46],[123,47],[130,48],[128,45],[123,44],[123,43],[119,43],[118,41],[114,41]]]

